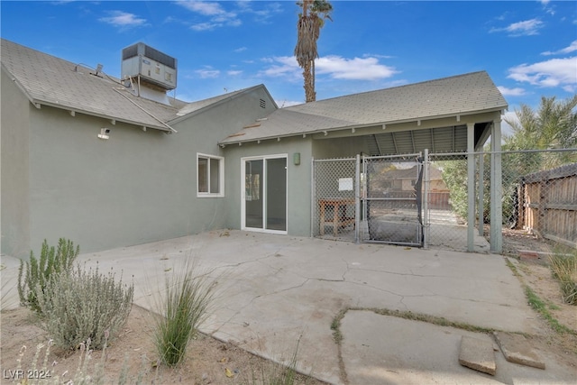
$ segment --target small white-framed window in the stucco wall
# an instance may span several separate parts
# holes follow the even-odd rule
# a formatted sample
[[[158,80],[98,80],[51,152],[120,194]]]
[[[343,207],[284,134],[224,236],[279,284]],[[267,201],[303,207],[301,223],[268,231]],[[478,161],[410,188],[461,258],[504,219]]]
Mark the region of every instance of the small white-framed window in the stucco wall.
[[[197,154],[197,197],[224,197],[224,158]]]

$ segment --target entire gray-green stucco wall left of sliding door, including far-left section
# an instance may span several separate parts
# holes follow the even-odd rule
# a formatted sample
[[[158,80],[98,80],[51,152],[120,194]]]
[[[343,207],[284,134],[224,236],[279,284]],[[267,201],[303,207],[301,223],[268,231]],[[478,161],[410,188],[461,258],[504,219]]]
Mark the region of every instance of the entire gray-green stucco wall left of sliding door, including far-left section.
[[[38,108],[12,80],[3,67],[2,252],[19,257],[44,239],[93,252],[228,226],[234,184],[224,197],[197,197],[197,153],[224,156],[218,140],[276,109],[265,87],[252,87],[175,116],[178,133],[167,134]],[[110,139],[97,137],[101,128]]]

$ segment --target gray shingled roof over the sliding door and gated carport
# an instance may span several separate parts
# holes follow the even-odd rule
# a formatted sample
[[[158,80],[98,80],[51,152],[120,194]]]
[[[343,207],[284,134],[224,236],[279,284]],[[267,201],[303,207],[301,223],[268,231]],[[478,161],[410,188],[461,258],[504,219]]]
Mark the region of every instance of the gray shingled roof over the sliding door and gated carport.
[[[472,115],[507,106],[487,72],[480,71],[280,108],[221,144]]]

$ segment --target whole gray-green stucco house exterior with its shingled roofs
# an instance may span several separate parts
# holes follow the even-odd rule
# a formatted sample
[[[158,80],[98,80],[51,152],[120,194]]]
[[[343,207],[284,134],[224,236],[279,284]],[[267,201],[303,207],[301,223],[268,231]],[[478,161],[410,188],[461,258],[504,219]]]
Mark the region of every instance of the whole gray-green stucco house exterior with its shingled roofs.
[[[243,207],[258,205],[243,197],[251,157],[286,157],[286,180],[267,181],[286,182],[286,205],[269,208],[286,210],[280,234],[309,236],[311,160],[432,145],[472,152],[490,134],[499,138],[507,107],[484,71],[280,109],[263,85],[167,104],[66,60],[2,47],[1,242],[3,253],[23,258],[44,239],[96,252],[242,228]],[[98,138],[102,129],[108,139]],[[218,197],[197,194],[198,154],[224,162]]]

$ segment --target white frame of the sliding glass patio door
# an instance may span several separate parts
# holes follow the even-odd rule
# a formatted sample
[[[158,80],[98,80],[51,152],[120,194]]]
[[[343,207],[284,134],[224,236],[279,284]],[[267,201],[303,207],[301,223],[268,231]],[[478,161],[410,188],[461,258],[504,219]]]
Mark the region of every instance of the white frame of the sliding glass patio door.
[[[266,194],[266,187],[267,187],[267,167],[266,167],[266,160],[270,159],[284,159],[285,160],[285,230],[270,230],[264,228],[257,228],[257,227],[247,227],[246,226],[246,189],[245,189],[245,176],[246,176],[246,167],[245,163],[247,160],[262,160],[262,217],[263,220],[266,218],[267,212],[267,194]],[[256,233],[269,233],[269,234],[289,234],[289,154],[288,153],[278,153],[278,154],[270,154],[270,155],[259,155],[259,156],[247,156],[241,158],[241,230],[243,231],[252,231]]]

